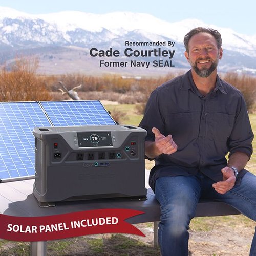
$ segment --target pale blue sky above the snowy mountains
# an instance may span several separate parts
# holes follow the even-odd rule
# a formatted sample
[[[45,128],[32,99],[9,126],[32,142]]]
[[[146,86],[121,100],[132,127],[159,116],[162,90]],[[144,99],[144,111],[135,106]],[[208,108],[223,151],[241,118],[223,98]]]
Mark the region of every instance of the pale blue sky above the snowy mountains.
[[[31,14],[83,11],[103,14],[113,11],[144,12],[168,22],[186,18],[256,35],[256,1],[191,0],[0,0],[0,6]]]

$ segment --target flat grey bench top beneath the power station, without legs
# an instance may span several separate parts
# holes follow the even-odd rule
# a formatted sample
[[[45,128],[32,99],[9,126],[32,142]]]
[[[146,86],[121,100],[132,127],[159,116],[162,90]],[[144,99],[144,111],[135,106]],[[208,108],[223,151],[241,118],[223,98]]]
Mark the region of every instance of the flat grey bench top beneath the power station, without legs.
[[[0,213],[10,216],[39,217],[69,212],[104,209],[104,208],[127,208],[146,212],[159,218],[159,204],[151,189],[147,190],[146,200],[138,199],[93,199],[56,202],[54,207],[40,207],[33,195],[34,179],[0,183]],[[139,223],[137,216],[131,218],[131,223]],[[146,216],[143,216],[143,219]],[[132,220],[134,219],[134,220]],[[154,219],[154,217],[153,217]],[[147,222],[147,219],[145,219]]]

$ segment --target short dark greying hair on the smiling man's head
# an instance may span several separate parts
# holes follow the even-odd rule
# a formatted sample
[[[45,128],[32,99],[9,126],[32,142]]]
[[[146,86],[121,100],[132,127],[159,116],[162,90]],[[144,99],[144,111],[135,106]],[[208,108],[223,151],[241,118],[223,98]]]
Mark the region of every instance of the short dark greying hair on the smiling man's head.
[[[216,39],[216,42],[217,42],[217,47],[220,50],[221,44],[222,44],[221,34],[217,30],[215,30],[215,29],[198,27],[198,28],[190,30],[184,36],[184,41],[183,42],[184,42],[184,46],[185,46],[187,52],[189,50],[188,49],[188,42],[189,42],[190,38],[193,35],[196,35],[198,33],[208,33],[208,34],[211,34],[212,36],[214,36],[214,38]]]

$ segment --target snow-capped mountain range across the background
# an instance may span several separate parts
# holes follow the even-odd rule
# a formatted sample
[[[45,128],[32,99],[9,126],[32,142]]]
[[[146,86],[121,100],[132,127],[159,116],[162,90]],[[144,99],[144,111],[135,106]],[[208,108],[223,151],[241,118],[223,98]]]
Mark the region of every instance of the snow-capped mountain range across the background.
[[[172,41],[175,42],[175,46],[171,47],[176,51],[175,67],[186,68],[188,63],[183,57],[183,38],[190,29],[199,26],[215,28],[222,34],[224,58],[220,67],[223,71],[256,73],[256,35],[239,34],[197,19],[169,23],[150,14],[132,12],[100,15],[65,11],[32,15],[0,7],[0,62],[18,54],[36,54],[40,62],[49,60],[60,67],[60,59],[69,59],[74,66],[80,56],[79,65],[84,65],[83,61],[87,60],[87,64],[90,62],[96,67],[96,62],[88,54],[92,47],[122,50],[125,41]],[[147,49],[150,47],[147,46]]]

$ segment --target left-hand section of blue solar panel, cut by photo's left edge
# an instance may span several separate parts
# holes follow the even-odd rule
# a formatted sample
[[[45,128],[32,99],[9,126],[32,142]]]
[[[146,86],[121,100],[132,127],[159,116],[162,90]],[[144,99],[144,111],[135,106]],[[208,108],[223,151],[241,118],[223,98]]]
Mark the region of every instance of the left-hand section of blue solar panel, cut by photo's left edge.
[[[49,126],[37,102],[0,104],[0,179],[34,176],[34,136],[38,126]]]

